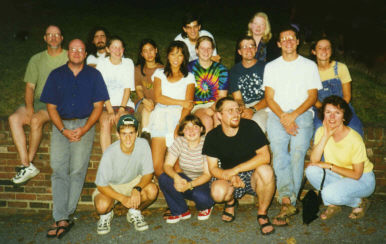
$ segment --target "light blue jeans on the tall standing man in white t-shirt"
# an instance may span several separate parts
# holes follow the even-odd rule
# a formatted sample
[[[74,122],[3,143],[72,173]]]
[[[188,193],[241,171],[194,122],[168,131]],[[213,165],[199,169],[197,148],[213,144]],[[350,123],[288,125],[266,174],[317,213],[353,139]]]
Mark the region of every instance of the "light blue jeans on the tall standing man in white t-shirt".
[[[299,127],[298,134],[292,136],[285,131],[276,114],[268,113],[267,132],[273,153],[273,169],[279,202],[281,203],[283,197],[289,197],[293,205],[296,204],[303,178],[304,157],[310,147],[313,134],[312,112],[304,112],[296,118],[295,122]],[[289,151],[288,146],[290,146]]]

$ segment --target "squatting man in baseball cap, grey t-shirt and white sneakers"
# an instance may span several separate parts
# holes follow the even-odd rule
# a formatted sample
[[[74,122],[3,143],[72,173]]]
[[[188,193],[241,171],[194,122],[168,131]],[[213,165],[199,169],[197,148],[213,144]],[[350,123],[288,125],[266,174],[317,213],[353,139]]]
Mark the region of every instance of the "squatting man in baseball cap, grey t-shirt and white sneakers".
[[[150,146],[145,139],[137,138],[137,130],[138,120],[123,115],[117,124],[119,140],[106,149],[99,164],[93,200],[100,216],[97,228],[100,235],[110,232],[113,208],[118,202],[129,209],[127,221],[137,231],[149,228],[141,210],[157,198],[158,187],[152,183]]]

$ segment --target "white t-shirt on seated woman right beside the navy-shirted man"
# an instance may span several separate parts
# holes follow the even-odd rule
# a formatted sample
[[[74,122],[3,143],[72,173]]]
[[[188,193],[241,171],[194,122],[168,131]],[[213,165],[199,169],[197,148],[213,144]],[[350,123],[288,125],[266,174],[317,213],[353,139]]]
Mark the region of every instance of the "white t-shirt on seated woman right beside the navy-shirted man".
[[[135,90],[134,63],[131,59],[122,58],[122,62],[115,65],[110,62],[109,57],[99,58],[96,69],[102,73],[112,106],[121,105],[125,88]],[[127,106],[134,108],[134,103],[129,100]]]

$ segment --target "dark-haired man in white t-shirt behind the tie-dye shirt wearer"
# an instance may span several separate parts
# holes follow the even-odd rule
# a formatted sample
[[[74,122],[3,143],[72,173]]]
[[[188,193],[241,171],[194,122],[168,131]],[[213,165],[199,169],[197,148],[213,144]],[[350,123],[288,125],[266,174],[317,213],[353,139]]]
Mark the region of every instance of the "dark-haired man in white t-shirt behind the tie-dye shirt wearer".
[[[174,38],[176,41],[183,41],[189,49],[189,62],[197,59],[196,42],[201,36],[214,37],[206,30],[201,30],[201,22],[198,16],[187,13],[182,22],[182,32]],[[213,50],[213,56],[211,58],[215,62],[220,62],[221,57],[217,54],[217,49]]]

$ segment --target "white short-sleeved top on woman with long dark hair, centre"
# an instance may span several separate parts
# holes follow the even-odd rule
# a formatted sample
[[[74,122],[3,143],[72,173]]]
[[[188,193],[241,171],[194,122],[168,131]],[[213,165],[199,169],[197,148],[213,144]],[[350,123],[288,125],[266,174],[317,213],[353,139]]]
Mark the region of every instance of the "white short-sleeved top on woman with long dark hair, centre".
[[[189,84],[196,84],[194,75],[190,72],[186,77],[183,77],[177,82],[169,82],[166,75],[164,74],[163,68],[154,71],[154,74],[151,77],[153,82],[154,77],[157,77],[161,80],[162,95],[174,99],[185,100],[187,86]]]

